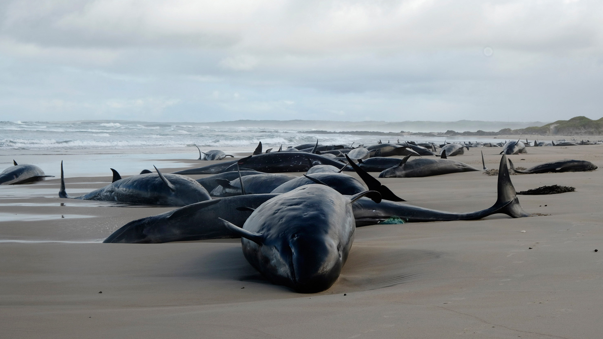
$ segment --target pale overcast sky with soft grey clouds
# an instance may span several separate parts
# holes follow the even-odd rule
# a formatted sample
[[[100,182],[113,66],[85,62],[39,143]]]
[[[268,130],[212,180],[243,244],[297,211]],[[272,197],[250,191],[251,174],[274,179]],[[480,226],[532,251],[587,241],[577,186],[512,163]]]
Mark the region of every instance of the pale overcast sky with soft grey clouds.
[[[603,2],[0,1],[0,120],[603,116]]]

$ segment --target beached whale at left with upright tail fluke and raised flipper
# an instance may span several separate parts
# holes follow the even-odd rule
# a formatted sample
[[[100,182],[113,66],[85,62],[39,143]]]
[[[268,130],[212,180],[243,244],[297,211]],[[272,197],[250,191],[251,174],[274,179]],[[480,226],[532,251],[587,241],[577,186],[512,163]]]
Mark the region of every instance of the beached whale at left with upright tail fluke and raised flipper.
[[[115,179],[116,171],[114,170],[113,173]],[[179,174],[162,174],[159,170],[157,173],[138,174],[119,179],[80,197],[70,197],[65,191],[63,162],[61,162],[61,188],[58,196],[81,200],[121,201],[163,206],[186,206],[211,199],[207,190],[195,180]]]

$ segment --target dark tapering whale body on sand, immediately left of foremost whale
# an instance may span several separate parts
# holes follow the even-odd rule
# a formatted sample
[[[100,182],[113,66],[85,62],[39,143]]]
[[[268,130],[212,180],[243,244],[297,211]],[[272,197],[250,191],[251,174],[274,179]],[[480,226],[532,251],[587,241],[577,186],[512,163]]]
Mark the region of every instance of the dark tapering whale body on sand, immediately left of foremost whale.
[[[236,195],[190,204],[174,211],[130,221],[108,236],[103,242],[128,244],[158,244],[170,241],[239,238],[218,217],[242,227],[251,211],[236,208],[257,208],[277,194]]]

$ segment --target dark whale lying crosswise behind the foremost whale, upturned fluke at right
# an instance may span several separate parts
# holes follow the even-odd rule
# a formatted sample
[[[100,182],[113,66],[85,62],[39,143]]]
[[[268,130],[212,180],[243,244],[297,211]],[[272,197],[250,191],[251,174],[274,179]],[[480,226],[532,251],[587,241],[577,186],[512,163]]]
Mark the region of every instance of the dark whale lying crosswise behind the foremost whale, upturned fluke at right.
[[[409,204],[382,200],[374,201],[361,198],[352,204],[356,227],[380,223],[391,217],[399,217],[408,222],[475,220],[491,214],[504,213],[513,218],[528,217],[519,204],[515,188],[511,183],[505,159],[504,168],[499,167],[498,197],[496,203],[488,209],[469,213],[456,213],[420,208]],[[322,185],[314,185],[322,186]],[[130,221],[113,232],[104,242],[159,243],[169,241],[191,241],[219,238],[239,238],[222,226],[218,217],[229,218],[236,226],[242,226],[250,212],[237,208],[257,208],[270,198],[279,194],[237,195],[191,204],[174,211]]]

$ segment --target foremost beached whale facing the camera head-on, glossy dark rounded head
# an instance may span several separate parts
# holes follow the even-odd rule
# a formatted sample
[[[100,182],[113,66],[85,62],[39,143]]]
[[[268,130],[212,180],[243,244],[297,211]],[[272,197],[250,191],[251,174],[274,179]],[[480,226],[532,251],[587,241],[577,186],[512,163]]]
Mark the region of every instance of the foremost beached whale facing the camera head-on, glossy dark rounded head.
[[[356,230],[352,201],[365,194],[374,193],[347,198],[324,185],[301,186],[261,204],[242,228],[224,224],[239,233],[245,259],[273,284],[317,293],[335,283],[346,263]]]

